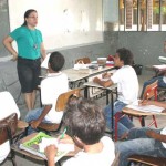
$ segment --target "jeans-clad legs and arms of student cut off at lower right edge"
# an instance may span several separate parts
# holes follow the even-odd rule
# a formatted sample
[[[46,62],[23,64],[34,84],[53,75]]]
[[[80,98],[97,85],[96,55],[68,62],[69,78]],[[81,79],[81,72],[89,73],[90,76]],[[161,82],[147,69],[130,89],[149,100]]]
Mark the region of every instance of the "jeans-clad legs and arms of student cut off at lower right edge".
[[[149,101],[147,104],[166,108],[165,102]],[[116,143],[116,153],[120,153],[120,166],[127,166],[127,157],[134,154],[166,156],[166,127],[162,129],[142,127],[132,128],[126,142]]]

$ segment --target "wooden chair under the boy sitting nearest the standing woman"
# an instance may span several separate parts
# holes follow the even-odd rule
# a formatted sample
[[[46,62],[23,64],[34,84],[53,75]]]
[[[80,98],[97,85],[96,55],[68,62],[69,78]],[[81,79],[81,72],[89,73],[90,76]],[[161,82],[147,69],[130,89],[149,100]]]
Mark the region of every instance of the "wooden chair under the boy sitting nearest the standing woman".
[[[69,92],[62,93],[62,94],[58,97],[55,110],[56,110],[56,111],[64,111],[69,97],[70,97],[71,95],[80,96],[80,91],[81,91],[81,89],[74,89],[74,90],[71,90],[71,91],[69,91]],[[55,123],[43,123],[43,122],[42,122],[42,123],[38,126],[38,129],[39,129],[39,131],[44,131],[45,133],[49,134],[50,132],[59,132],[60,128],[61,128],[61,125],[62,125],[62,121],[61,121],[60,124],[55,124]]]

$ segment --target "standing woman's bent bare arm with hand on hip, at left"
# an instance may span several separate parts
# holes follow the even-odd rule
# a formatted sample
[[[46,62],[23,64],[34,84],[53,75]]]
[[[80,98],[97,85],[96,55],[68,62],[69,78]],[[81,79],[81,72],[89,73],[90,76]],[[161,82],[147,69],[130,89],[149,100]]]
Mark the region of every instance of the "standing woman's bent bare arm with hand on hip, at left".
[[[15,61],[18,59],[18,53],[13,49],[13,46],[11,44],[12,42],[13,42],[13,39],[11,37],[9,37],[9,35],[3,39],[4,46],[13,55],[12,60]]]

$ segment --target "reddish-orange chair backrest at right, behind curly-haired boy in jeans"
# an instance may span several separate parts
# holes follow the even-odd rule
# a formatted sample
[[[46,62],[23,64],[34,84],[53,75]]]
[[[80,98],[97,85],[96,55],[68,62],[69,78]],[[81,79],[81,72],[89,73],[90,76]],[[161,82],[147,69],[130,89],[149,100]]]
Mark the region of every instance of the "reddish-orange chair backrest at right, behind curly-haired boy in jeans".
[[[149,100],[154,97],[155,101],[157,101],[157,86],[158,81],[155,81],[152,84],[147,85],[143,94],[143,100]]]

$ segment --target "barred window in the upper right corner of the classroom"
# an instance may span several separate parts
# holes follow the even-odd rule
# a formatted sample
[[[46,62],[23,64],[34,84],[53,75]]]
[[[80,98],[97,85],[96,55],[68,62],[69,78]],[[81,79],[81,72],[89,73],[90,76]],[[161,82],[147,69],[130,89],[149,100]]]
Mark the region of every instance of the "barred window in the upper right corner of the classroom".
[[[163,20],[164,20],[164,11],[163,8],[165,6],[163,6],[164,3],[166,3],[166,1],[163,1],[163,0],[158,0],[158,23],[157,24],[154,24],[154,20],[153,20],[153,17],[154,17],[154,6],[152,6],[152,9],[148,9],[148,0],[145,0],[145,9],[143,10],[142,7],[141,7],[141,3],[143,2],[143,0],[136,0],[136,24],[134,24],[132,22],[132,29],[127,29],[126,28],[126,2],[127,0],[118,0],[118,31],[127,31],[127,32],[131,32],[131,31],[166,31],[166,24],[164,24]],[[133,0],[132,0],[133,2]],[[123,7],[122,8],[122,3],[123,3]],[[152,1],[152,3],[154,3],[154,0]],[[163,7],[163,8],[162,8]],[[132,10],[134,11],[134,7],[132,8]],[[148,10],[148,11],[147,11]],[[148,20],[148,12],[149,10],[152,10],[152,17],[151,19],[152,20]],[[143,12],[143,13],[142,13]],[[134,19],[134,12],[132,12],[133,14],[129,15],[132,17],[132,19]],[[145,15],[143,15],[145,14]],[[143,18],[144,17],[144,18]],[[165,14],[166,17],[166,14]],[[143,18],[143,20],[142,20]],[[142,23],[142,21],[144,23]],[[148,29],[148,21],[152,21],[152,29]],[[123,22],[123,24],[122,24]],[[136,27],[134,29],[134,27]]]

